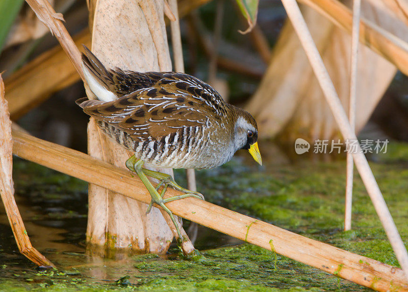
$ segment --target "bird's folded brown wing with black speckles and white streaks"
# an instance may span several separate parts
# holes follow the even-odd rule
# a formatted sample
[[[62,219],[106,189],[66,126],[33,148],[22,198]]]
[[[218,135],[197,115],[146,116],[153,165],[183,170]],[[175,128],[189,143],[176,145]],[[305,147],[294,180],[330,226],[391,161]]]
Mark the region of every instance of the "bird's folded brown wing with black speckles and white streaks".
[[[135,140],[160,140],[190,127],[203,131],[211,123],[221,123],[224,105],[211,86],[179,73],[163,73],[154,86],[111,102],[81,104],[97,121],[124,131]]]

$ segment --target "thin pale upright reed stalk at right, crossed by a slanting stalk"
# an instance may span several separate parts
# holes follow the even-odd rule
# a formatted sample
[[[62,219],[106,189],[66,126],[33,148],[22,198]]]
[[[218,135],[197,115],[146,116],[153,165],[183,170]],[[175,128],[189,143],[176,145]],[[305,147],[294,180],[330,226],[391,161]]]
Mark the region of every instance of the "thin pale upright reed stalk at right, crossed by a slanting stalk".
[[[359,53],[361,0],[353,0],[353,27],[351,32],[351,58],[350,58],[350,97],[348,119],[351,129],[355,132],[355,104],[357,95],[357,66]],[[346,202],[344,212],[344,230],[351,229],[351,209],[353,200],[353,156],[347,153],[346,162]]]

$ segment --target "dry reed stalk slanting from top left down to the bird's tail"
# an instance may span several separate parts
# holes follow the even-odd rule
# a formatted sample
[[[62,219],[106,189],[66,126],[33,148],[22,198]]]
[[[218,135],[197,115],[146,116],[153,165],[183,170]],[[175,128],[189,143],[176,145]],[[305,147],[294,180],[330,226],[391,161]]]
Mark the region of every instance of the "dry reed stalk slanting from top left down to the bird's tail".
[[[81,68],[81,53],[73,42],[71,36],[66,30],[62,21],[64,21],[61,13],[56,13],[52,6],[46,0],[25,0],[33,9],[37,17],[49,28],[51,33],[60,42],[65,53],[68,55],[81,79],[84,79]]]

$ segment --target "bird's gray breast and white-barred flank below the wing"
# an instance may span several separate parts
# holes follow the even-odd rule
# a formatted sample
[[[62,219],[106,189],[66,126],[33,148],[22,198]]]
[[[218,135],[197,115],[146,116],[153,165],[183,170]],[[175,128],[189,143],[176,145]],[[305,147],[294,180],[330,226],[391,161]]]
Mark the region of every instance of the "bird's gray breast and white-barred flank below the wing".
[[[131,136],[105,122],[98,126],[137,158],[156,167],[214,168],[231,160],[235,152],[225,128],[183,127],[154,138]]]

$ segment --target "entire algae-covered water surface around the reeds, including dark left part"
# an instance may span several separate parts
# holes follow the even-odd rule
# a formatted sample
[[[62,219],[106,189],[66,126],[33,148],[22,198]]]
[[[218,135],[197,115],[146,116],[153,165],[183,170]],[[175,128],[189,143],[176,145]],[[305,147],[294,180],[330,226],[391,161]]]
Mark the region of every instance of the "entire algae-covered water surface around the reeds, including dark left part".
[[[344,157],[290,160],[266,142],[261,142],[261,153],[262,167],[243,152],[218,169],[198,171],[199,191],[208,201],[228,209],[398,266],[358,176],[353,229],[343,231]],[[408,144],[391,141],[387,154],[369,158],[407,244]],[[184,181],[183,171],[176,171],[177,179]],[[17,204],[32,243],[58,270],[38,270],[19,254],[1,207],[0,291],[369,290],[206,227],[199,227],[195,246],[202,256],[194,260],[183,259],[175,246],[165,256],[92,256],[85,245],[87,183],[18,158],[14,159],[14,180]]]

